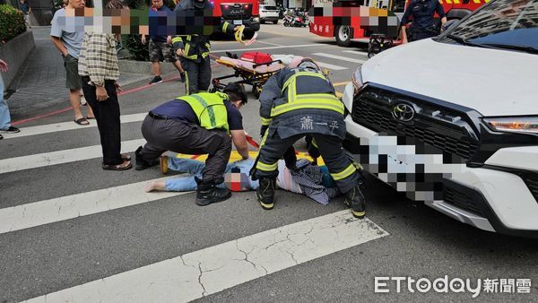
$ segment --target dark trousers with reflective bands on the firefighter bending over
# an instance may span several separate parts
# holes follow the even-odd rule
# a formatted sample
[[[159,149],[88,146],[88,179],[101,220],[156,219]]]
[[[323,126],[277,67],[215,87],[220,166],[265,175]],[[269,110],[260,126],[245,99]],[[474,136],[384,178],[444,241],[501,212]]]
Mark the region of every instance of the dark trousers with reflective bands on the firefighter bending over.
[[[329,169],[334,182],[341,193],[347,193],[359,182],[359,173],[345,155],[342,140],[333,135],[326,134],[296,134],[282,139],[278,131],[269,128],[258,154],[256,164],[256,177],[274,178],[278,176],[278,169],[271,169],[282,158],[284,152],[305,135],[310,135],[316,140],[317,148],[325,165]],[[262,163],[260,165],[260,162]],[[263,169],[260,169],[263,167]],[[349,173],[345,173],[345,172]]]

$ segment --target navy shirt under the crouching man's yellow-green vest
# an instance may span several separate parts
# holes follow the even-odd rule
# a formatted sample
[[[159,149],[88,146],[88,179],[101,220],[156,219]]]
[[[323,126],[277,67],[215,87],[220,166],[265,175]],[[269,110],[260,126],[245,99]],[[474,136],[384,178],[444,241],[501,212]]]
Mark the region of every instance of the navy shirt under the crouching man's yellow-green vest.
[[[230,101],[225,100],[224,105],[228,111],[228,126],[230,131],[243,129],[243,116]],[[194,123],[200,125],[193,108],[184,100],[169,100],[157,108],[152,109],[153,114],[158,114],[179,122]]]

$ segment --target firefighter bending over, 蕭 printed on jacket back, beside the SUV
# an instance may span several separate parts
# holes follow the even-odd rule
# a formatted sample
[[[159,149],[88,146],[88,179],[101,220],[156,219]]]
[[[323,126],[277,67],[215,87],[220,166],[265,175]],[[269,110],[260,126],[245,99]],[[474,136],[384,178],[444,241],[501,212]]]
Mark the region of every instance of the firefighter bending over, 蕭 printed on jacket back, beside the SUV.
[[[310,59],[298,68],[284,68],[265,83],[260,95],[262,139],[253,178],[259,178],[256,198],[263,209],[273,209],[277,161],[300,138],[310,135],[334,178],[353,216],[365,215],[360,174],[343,151],[346,134],[343,103],[334,95],[333,84]]]

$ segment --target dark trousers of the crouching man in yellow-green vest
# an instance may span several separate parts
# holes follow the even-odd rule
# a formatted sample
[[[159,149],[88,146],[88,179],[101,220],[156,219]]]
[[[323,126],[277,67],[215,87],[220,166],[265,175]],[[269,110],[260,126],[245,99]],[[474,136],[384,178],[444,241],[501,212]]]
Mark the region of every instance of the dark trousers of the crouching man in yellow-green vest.
[[[224,181],[231,152],[230,135],[225,130],[207,130],[195,124],[148,116],[143,120],[142,134],[148,142],[140,152],[144,160],[156,160],[166,151],[208,154],[202,172],[204,181]]]

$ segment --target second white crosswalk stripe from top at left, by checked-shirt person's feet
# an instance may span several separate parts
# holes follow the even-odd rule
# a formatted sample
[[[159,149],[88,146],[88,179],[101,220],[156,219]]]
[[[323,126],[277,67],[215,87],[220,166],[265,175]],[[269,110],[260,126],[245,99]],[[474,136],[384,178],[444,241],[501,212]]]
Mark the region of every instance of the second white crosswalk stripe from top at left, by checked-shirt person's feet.
[[[124,152],[134,152],[138,146],[143,145],[145,142],[143,139],[125,141],[121,143],[121,147]],[[57,152],[37,153],[29,156],[0,160],[0,174],[100,157],[102,157],[100,145],[84,146]]]

